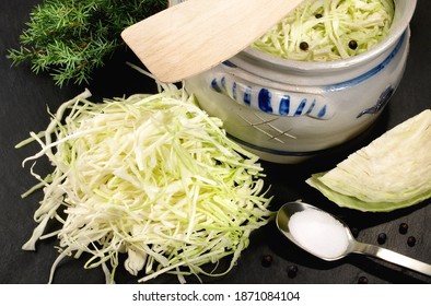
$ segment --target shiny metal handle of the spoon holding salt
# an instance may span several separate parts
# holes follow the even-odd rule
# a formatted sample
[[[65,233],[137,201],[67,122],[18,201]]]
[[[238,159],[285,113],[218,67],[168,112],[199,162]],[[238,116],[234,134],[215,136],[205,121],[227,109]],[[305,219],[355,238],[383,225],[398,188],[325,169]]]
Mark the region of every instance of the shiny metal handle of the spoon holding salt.
[[[380,258],[388,262],[398,264],[400,267],[431,276],[431,264],[424,263],[417,259],[412,259],[399,252],[388,250],[386,248],[363,243],[356,243],[352,252]]]

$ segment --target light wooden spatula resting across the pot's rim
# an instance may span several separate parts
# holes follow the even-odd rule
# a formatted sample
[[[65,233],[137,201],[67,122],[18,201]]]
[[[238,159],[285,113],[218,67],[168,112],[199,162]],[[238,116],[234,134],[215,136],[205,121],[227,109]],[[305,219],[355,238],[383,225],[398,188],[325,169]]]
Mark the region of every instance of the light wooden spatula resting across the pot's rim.
[[[304,0],[188,0],[121,33],[162,82],[210,69],[245,49]]]

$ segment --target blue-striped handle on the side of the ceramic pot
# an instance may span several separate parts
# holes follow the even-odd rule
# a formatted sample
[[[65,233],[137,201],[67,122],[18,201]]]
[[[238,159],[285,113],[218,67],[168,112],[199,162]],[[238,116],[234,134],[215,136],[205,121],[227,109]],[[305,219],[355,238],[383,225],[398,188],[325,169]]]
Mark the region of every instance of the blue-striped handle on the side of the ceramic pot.
[[[263,87],[244,80],[233,80],[230,74],[212,75],[210,87],[241,105],[287,117],[310,116],[329,119],[334,113],[321,95],[303,92],[282,92]]]

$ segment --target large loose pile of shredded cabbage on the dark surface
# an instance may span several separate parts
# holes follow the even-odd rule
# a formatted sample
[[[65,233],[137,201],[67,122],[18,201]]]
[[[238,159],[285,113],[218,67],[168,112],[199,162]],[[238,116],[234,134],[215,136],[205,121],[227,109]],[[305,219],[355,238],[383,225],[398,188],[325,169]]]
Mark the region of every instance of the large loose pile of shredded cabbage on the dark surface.
[[[23,195],[44,191],[34,215],[39,225],[23,248],[59,242],[49,282],[62,258],[82,254],[90,255],[84,267],[102,267],[107,283],[115,282],[119,254],[139,282],[162,273],[180,282],[228,273],[251,232],[272,215],[258,157],[229,140],[222,121],[182,90],[103,103],[90,96],[85,91],[62,104],[46,131],[16,145],[42,146],[23,166],[43,156],[54,166],[46,178],[32,167],[39,184]],[[49,222],[61,227],[44,233]],[[203,270],[226,256],[225,271]]]

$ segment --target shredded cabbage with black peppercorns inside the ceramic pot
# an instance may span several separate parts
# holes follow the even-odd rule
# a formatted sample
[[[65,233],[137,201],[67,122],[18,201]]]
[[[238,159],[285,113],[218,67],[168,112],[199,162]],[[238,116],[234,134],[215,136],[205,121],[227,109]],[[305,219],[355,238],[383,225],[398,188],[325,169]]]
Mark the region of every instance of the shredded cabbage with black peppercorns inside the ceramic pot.
[[[393,0],[308,0],[252,47],[300,61],[346,59],[386,37],[394,12]]]

